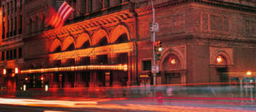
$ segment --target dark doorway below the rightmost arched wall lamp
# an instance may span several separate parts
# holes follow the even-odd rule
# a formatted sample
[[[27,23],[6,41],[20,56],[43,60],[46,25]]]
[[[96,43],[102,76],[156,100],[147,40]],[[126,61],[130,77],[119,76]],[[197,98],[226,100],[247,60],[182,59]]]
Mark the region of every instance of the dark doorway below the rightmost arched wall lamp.
[[[228,70],[227,67],[216,67],[216,72],[219,76],[219,81],[221,83],[227,83],[229,82],[228,78]]]

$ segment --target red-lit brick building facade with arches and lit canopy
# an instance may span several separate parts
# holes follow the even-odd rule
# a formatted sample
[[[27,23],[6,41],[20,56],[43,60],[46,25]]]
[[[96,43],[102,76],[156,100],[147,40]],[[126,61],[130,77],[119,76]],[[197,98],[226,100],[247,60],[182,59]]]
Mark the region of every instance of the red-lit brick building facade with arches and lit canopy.
[[[48,6],[57,9],[61,0],[40,1],[24,1],[22,40],[1,43],[2,51],[10,52],[15,44],[24,50],[13,67],[8,66],[11,61],[1,61],[3,69],[14,72],[19,67],[15,76],[19,87],[152,83],[147,77],[153,51],[150,0],[67,1],[76,11],[61,29],[44,24]],[[256,72],[255,1],[157,0],[154,7],[159,24],[156,40],[163,43],[158,84],[231,82],[232,77]]]

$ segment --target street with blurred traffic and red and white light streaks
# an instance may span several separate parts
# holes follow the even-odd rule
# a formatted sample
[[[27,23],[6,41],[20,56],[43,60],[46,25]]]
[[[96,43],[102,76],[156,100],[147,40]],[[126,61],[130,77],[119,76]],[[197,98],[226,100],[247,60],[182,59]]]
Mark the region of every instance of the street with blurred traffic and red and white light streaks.
[[[231,85],[0,91],[1,111],[255,111],[256,89]]]

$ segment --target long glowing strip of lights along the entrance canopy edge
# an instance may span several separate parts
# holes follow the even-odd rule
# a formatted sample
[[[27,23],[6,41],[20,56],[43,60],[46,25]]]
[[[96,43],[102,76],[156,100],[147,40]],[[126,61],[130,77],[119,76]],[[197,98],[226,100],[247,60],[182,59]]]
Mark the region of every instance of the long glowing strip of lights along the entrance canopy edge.
[[[117,70],[127,71],[127,65],[90,65],[90,66],[77,66],[77,67],[54,67],[54,68],[41,68],[41,69],[30,69],[22,70],[20,73],[44,73],[44,72],[76,72],[85,70]]]

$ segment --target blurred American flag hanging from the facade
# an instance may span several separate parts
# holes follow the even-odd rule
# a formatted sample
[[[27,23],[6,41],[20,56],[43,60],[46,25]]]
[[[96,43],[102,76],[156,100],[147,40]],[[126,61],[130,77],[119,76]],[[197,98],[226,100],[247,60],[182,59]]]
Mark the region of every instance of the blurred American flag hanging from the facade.
[[[45,23],[59,29],[63,26],[68,16],[74,11],[66,2],[61,4],[61,7],[56,13],[53,7],[49,8],[48,14],[45,18]]]

